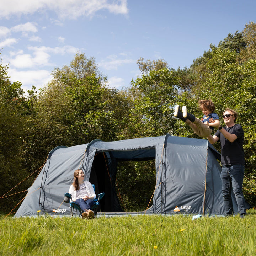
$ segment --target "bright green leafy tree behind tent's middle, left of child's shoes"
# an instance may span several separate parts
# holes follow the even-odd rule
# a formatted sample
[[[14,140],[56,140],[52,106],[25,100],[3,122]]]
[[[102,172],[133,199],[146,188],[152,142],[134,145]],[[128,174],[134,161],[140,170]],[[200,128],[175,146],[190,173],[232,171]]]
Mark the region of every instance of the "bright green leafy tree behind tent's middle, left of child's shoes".
[[[163,60],[152,63],[142,60],[138,62],[144,66],[144,74],[131,82],[129,90],[131,106],[127,133],[130,138],[166,134],[172,130],[174,122],[171,113],[177,96],[176,77]]]

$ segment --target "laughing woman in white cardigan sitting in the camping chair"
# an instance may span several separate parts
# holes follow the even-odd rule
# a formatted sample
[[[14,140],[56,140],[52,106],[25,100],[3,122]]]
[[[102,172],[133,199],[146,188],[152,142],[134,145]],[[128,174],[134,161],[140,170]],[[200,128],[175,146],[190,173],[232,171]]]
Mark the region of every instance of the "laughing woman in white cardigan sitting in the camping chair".
[[[76,202],[84,212],[82,219],[91,219],[94,217],[91,207],[94,205],[93,199],[96,198],[94,188],[89,181],[84,181],[84,172],[81,169],[74,171],[74,180],[69,188],[72,195],[72,201]]]

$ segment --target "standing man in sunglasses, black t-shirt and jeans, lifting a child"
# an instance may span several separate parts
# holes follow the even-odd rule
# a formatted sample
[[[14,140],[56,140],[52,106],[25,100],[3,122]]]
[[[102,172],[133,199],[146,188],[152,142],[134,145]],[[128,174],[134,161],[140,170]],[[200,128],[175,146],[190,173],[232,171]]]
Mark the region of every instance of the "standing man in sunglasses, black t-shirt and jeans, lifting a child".
[[[240,124],[235,124],[238,114],[236,111],[226,108],[223,114],[223,121],[226,126],[218,126],[217,132],[212,136],[207,136],[211,144],[220,140],[221,146],[221,164],[222,172],[220,174],[222,180],[222,196],[225,205],[225,215],[233,214],[233,206],[231,199],[231,189],[233,188],[238,212],[240,216],[245,217],[245,199],[242,192],[242,184],[244,180],[244,130]],[[213,122],[213,120],[210,120]]]

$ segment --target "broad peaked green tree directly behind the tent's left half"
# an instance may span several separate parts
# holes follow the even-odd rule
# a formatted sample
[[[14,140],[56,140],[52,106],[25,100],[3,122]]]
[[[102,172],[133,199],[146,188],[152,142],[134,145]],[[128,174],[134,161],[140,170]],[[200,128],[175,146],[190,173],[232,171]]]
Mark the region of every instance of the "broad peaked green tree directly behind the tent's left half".
[[[76,54],[69,66],[56,68],[52,76],[36,102],[37,114],[26,141],[27,159],[43,162],[59,145],[117,139],[127,103],[122,93],[107,87],[93,58]]]

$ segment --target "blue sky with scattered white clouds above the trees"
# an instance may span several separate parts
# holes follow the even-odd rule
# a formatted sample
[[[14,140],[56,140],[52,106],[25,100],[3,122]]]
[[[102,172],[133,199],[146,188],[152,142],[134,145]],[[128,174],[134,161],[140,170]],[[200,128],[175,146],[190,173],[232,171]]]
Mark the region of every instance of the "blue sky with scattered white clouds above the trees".
[[[109,87],[140,76],[136,61],[193,60],[256,22],[255,0],[0,0],[0,58],[22,88],[43,88],[76,53],[94,57]]]

